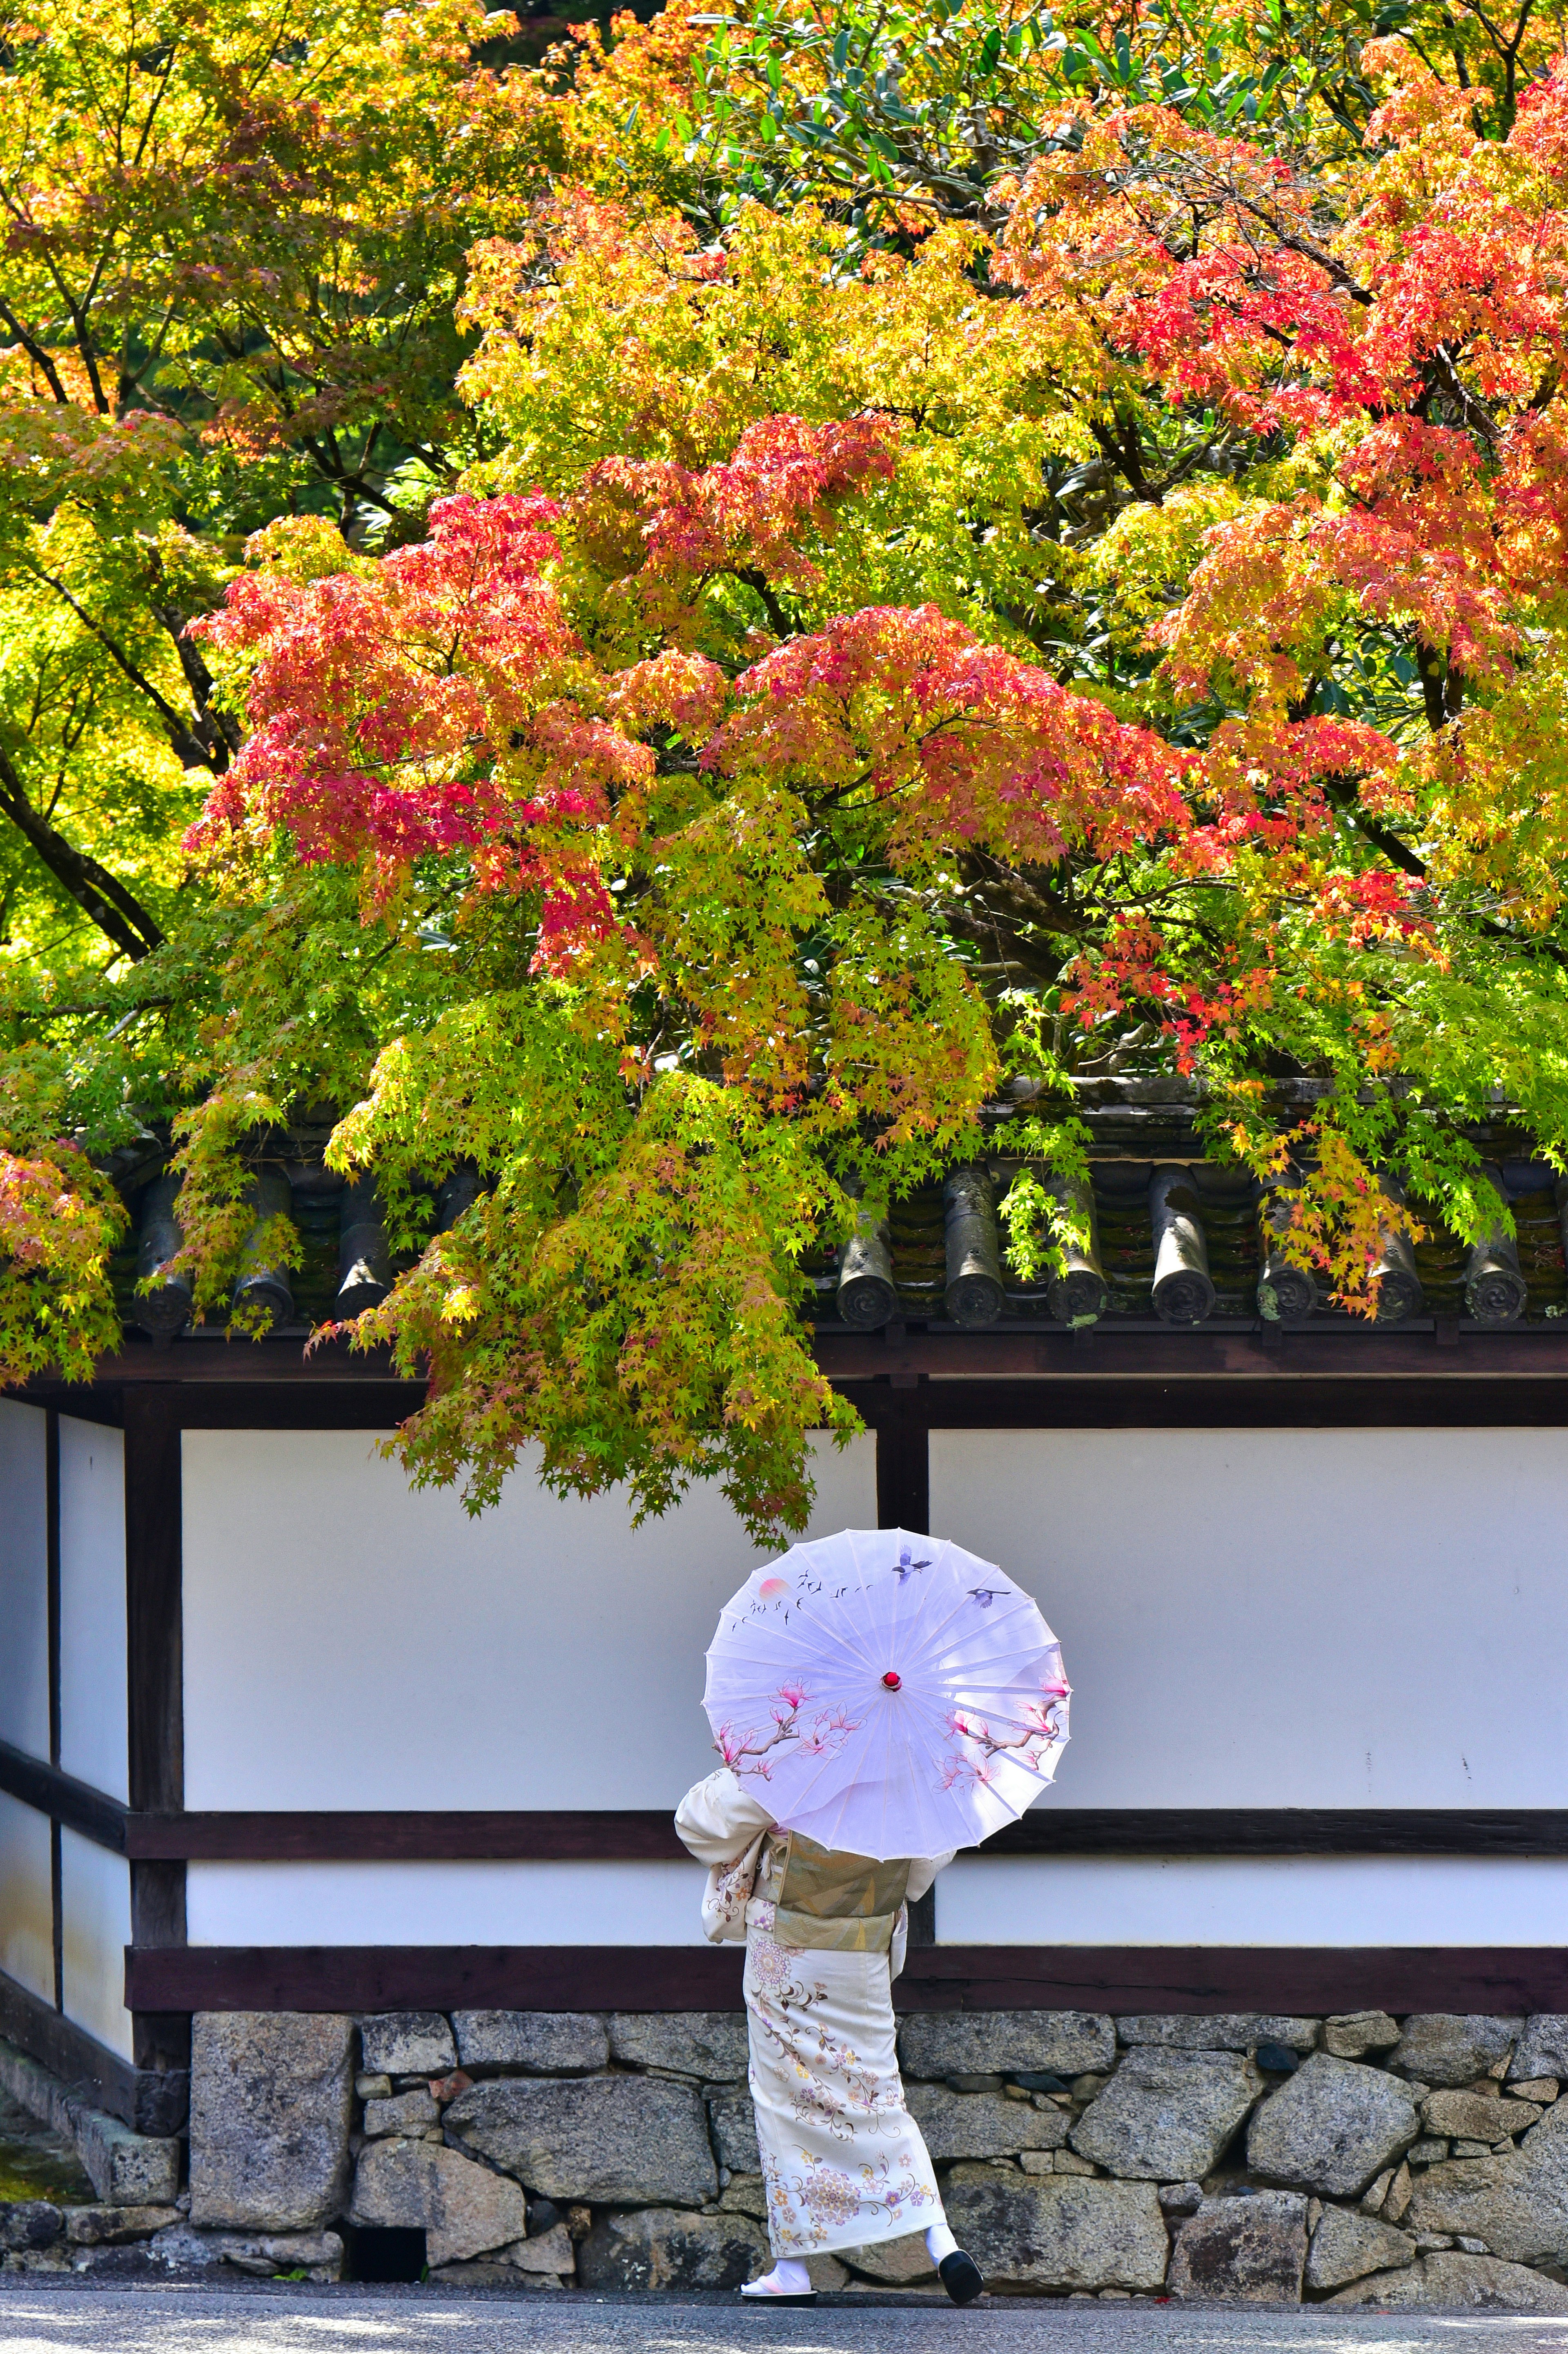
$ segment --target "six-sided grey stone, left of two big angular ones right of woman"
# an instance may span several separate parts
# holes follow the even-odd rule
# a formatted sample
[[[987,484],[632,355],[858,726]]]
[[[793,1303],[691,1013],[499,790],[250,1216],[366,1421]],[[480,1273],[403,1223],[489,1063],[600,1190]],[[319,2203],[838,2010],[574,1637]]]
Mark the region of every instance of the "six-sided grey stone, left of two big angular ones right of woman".
[[[1205,2175],[1260,2093],[1262,2076],[1241,2053],[1142,2046],[1095,2095],[1069,2140],[1081,2159],[1114,2175],[1149,2182]]]

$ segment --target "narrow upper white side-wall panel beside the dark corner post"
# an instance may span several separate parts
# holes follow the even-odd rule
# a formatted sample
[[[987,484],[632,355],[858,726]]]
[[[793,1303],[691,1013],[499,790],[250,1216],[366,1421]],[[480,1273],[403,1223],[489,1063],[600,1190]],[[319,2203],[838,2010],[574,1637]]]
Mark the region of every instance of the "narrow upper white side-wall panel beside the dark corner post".
[[[59,1417],[59,1761],[129,1798],[125,1436]]]

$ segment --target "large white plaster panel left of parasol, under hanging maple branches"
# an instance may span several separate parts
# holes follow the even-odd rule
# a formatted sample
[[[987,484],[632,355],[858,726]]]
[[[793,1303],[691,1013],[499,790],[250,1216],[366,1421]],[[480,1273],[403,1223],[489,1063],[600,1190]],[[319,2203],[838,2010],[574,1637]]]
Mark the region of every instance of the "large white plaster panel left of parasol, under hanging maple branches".
[[[876,1525],[869,1436],[817,1452],[812,1530],[848,1525]],[[520,1469],[471,1521],[370,1431],[186,1431],[186,1806],[673,1806],[713,1768],[704,1650],[756,1558],[716,1488],[633,1530]]]

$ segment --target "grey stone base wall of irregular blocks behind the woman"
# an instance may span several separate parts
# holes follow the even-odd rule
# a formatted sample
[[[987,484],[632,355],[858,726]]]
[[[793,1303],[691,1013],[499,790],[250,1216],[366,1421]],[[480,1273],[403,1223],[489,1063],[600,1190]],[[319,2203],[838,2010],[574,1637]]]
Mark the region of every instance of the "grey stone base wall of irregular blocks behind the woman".
[[[1568,2017],[921,2013],[899,2053],[994,2290],[1568,2312]],[[739,2013],[207,2013],[151,2246],[417,2227],[438,2283],[735,2288],[763,2215]],[[918,2236],[812,2272],[932,2279]]]

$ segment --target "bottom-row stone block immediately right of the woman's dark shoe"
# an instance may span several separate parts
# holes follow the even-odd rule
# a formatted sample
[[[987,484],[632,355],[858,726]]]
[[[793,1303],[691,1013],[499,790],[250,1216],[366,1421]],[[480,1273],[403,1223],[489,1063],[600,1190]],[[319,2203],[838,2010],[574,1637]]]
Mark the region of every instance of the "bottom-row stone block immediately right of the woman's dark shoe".
[[[1161,2288],[1170,2241],[1154,2182],[956,2166],[946,2220],[998,2288]]]

